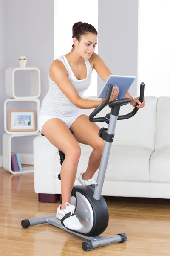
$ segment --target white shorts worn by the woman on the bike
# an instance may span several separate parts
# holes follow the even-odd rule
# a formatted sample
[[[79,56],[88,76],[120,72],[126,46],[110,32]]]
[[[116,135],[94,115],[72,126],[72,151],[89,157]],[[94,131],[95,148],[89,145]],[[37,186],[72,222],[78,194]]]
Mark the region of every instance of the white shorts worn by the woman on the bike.
[[[70,126],[77,119],[77,117],[79,117],[81,115],[83,115],[82,111],[79,111],[77,114],[75,114],[74,116],[71,116],[71,117],[39,116],[38,128],[39,128],[39,130],[41,132],[42,131],[42,126],[45,124],[45,122],[47,122],[51,118],[59,118],[59,119],[61,119],[63,122],[65,122],[65,124],[68,126],[68,128],[70,128]]]

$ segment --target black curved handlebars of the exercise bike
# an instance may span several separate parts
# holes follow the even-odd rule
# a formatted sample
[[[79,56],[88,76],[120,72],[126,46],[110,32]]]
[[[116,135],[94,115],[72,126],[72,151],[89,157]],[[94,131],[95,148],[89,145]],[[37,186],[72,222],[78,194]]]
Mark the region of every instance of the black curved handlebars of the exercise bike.
[[[141,103],[143,102],[143,99],[144,99],[144,88],[145,88],[145,84],[141,83],[140,84],[140,96],[139,96],[139,101]],[[94,118],[94,116],[96,116],[103,108],[105,108],[106,105],[108,105],[109,99],[111,98],[112,89],[113,89],[113,85],[109,84],[104,101],[97,108],[95,108],[94,111],[89,115],[89,120],[91,122],[105,122],[106,121],[106,117],[95,117]],[[117,99],[113,102],[110,102],[109,107],[113,108],[115,106],[122,106],[122,105],[126,105],[130,102],[131,102],[130,98]],[[137,105],[139,105],[139,104],[136,103],[133,111],[131,111],[127,115],[118,116],[118,120],[128,119],[128,118],[134,116],[137,113],[137,111],[139,110],[138,108],[136,108]]]

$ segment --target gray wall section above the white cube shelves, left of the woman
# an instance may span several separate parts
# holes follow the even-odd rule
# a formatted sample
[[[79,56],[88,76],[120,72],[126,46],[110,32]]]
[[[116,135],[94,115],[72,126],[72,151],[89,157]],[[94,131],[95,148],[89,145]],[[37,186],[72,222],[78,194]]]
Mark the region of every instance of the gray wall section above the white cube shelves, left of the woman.
[[[27,67],[40,69],[41,100],[48,90],[48,71],[54,60],[54,0],[10,1],[8,23],[8,66],[18,67],[17,58],[26,55]]]

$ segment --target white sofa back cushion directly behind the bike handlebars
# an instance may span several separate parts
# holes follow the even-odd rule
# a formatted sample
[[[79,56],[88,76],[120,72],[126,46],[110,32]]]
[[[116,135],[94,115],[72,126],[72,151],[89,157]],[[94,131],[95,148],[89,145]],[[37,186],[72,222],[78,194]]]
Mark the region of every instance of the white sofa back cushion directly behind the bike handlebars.
[[[94,100],[97,99],[97,97],[95,98],[93,96],[86,99]],[[113,145],[125,145],[154,151],[157,98],[155,96],[147,96],[145,100],[145,107],[139,109],[135,116],[117,122]],[[119,115],[130,113],[132,110],[133,106],[127,104],[120,108]],[[93,109],[83,109],[82,111],[89,116]],[[97,116],[105,116],[110,112],[111,108],[107,106]],[[100,128],[108,127],[105,122],[98,122],[97,125],[99,125]]]

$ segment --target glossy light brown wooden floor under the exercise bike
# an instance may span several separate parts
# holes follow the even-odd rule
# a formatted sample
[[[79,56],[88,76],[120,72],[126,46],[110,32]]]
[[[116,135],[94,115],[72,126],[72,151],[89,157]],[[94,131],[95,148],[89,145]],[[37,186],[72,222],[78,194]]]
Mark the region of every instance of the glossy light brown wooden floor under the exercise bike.
[[[105,198],[109,225],[103,236],[127,234],[127,242],[84,252],[84,239],[50,224],[21,227],[22,219],[53,215],[59,203],[39,203],[34,175],[0,168],[0,256],[169,256],[170,201]]]

